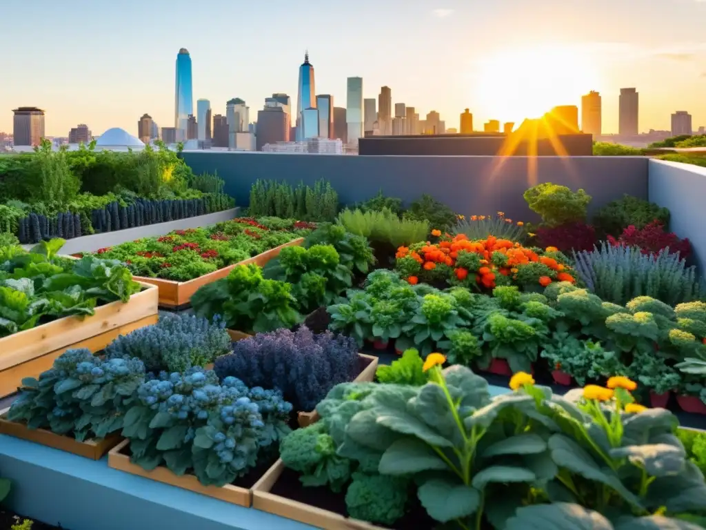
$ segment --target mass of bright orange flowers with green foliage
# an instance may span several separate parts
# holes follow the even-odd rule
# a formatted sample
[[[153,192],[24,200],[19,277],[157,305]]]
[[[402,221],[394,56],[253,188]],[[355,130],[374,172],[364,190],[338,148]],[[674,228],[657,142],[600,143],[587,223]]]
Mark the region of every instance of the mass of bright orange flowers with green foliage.
[[[471,241],[465,234],[445,234],[434,245],[400,247],[395,258],[395,269],[412,284],[445,281],[477,290],[514,284],[537,290],[553,281],[574,281],[568,259],[555,247],[542,252],[494,236]]]

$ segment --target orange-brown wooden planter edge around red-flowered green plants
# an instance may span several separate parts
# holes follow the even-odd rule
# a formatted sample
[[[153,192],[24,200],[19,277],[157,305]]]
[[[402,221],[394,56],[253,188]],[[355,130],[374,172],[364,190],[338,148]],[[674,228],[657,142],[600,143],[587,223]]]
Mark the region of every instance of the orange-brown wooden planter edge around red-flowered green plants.
[[[239,265],[249,265],[256,264],[258,266],[265,266],[270,259],[276,258],[280,251],[285,247],[299,246],[304,242],[304,237],[299,237],[296,240],[289,241],[284,245],[270,249],[262,254],[258,254],[255,257],[249,259],[244,259],[236,264],[223,267],[223,269],[218,269],[212,273],[204,274],[198,278],[193,278],[189,281],[172,281],[164,280],[162,278],[147,278],[145,276],[135,276],[137,281],[143,281],[145,283],[151,283],[152,285],[157,285],[160,289],[160,307],[165,307],[168,309],[177,309],[183,307],[191,301],[193,293],[207,285],[208,283],[213,283],[216,280],[225,278],[229,275],[230,271],[235,269]]]

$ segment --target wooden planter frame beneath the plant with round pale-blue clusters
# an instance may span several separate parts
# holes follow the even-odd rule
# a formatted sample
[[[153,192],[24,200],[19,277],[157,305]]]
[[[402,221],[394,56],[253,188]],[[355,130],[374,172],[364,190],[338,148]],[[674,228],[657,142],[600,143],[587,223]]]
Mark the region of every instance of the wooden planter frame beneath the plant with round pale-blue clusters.
[[[208,497],[213,497],[215,499],[225,500],[225,502],[230,502],[234,505],[244,506],[249,508],[252,503],[252,492],[251,490],[246,490],[245,488],[240,488],[239,486],[234,486],[226,484],[222,488],[215,485],[205,486],[198,481],[198,478],[193,475],[183,475],[177,476],[172,471],[169,471],[166,467],[159,466],[152,471],[147,471],[142,469],[137,464],[133,464],[130,461],[130,457],[126,454],[122,454],[122,450],[127,447],[130,440],[123,440],[120,444],[113,447],[108,453],[108,466],[112,469],[119,469],[125,473],[131,473],[131,475],[142,476],[145,478],[150,478],[152,481],[161,482],[164,484],[169,484],[176,486],[177,488],[182,488],[184,490],[193,491],[194,493],[201,493],[201,495],[208,495]]]

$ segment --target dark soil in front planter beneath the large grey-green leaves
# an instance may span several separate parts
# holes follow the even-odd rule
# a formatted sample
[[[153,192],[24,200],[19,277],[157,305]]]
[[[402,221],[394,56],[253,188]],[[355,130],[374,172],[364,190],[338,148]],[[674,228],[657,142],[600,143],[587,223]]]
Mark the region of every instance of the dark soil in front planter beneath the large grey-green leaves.
[[[304,504],[328,510],[345,517],[348,516],[346,510],[345,492],[333,493],[329,488],[305,488],[299,482],[299,473],[286,469],[282,471],[282,475],[277,479],[270,493],[286,497],[287,499],[303,502]],[[416,497],[412,497],[413,502],[409,505],[409,510],[402,519],[397,521],[393,526],[382,526],[394,530],[432,530],[437,526],[426,510],[419,504]]]

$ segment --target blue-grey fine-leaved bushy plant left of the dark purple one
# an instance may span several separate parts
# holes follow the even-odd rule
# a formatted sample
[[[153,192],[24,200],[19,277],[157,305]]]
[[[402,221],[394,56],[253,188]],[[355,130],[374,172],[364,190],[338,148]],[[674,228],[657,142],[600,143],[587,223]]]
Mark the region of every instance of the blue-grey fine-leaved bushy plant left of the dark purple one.
[[[105,348],[107,358],[137,357],[150,372],[186,372],[192,366],[213,363],[230,352],[225,322],[193,314],[166,314],[152,326],[121,335]]]

